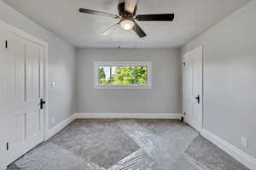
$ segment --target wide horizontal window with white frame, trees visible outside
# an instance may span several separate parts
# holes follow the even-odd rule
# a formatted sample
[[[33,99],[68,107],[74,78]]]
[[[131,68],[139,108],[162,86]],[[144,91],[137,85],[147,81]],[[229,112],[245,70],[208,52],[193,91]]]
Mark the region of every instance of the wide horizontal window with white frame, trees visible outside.
[[[96,88],[151,88],[151,62],[95,62]]]

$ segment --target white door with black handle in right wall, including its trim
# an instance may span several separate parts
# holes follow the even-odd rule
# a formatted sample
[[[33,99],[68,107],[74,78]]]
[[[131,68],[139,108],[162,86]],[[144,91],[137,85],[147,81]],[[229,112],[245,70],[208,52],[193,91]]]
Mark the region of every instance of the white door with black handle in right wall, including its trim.
[[[184,54],[183,110],[185,122],[196,130],[202,128],[202,47]]]

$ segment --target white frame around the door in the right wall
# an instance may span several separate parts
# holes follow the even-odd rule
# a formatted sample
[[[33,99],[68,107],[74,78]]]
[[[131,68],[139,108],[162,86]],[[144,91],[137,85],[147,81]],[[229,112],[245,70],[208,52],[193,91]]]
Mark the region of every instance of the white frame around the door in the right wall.
[[[202,66],[201,67],[201,80],[202,80],[202,82],[201,82],[201,116],[200,116],[200,120],[199,120],[200,125],[199,125],[199,129],[198,129],[199,132],[201,133],[201,131],[203,129],[203,116],[204,116],[204,94],[203,94],[203,89],[204,89],[204,78],[203,78],[203,75],[204,75],[204,73],[203,73],[203,70],[204,70],[204,65],[203,65],[203,63],[204,63],[203,62],[204,61],[204,54],[203,54],[203,45],[201,45],[197,48],[193,48],[193,49],[189,50],[189,52],[183,54],[183,69],[182,69],[182,71],[183,71],[183,114],[182,114],[182,116],[183,117],[186,116],[185,115],[185,97],[184,97],[184,95],[185,95],[185,86],[184,86],[184,82],[185,82],[185,75],[184,75],[185,56],[195,52],[195,50],[200,50],[200,52],[201,52],[201,66]],[[184,118],[184,121],[185,120],[186,119]]]

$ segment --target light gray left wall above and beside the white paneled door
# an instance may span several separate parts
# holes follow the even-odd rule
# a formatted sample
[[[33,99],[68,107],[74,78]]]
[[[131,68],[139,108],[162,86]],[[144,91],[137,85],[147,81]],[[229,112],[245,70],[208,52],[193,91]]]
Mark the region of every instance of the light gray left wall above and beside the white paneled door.
[[[49,43],[49,82],[55,82],[55,88],[49,89],[47,103],[49,127],[53,127],[75,111],[75,49],[3,1],[0,1],[0,20]],[[51,123],[53,117],[55,123]]]

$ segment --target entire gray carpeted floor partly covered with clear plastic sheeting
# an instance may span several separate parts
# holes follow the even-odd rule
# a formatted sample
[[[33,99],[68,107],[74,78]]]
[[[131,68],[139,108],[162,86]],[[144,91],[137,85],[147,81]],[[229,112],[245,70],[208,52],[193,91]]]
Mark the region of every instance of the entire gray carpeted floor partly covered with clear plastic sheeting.
[[[185,123],[76,120],[8,170],[247,170]]]

